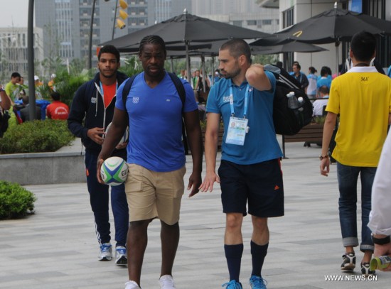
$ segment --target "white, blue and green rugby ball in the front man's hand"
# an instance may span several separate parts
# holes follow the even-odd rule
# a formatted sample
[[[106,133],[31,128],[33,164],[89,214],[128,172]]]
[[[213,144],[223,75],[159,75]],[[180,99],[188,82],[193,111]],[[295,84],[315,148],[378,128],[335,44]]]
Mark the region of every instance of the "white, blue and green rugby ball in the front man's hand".
[[[100,177],[106,185],[121,185],[127,180],[128,173],[127,162],[117,156],[107,158],[100,167]]]

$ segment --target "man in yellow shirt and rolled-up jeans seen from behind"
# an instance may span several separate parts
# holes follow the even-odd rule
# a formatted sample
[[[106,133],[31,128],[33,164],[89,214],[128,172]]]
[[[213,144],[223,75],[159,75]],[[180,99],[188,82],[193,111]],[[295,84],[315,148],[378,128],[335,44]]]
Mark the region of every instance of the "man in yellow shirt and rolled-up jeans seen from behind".
[[[321,151],[321,175],[330,172],[328,146],[339,116],[336,148],[332,156],[337,160],[339,188],[339,219],[342,243],[345,247],[341,270],[355,268],[354,247],[358,246],[357,233],[357,182],[361,179],[361,244],[364,253],[360,262],[361,273],[373,275],[370,258],[373,241],[368,228],[371,209],[371,188],[380,152],[391,121],[391,80],[370,67],[376,54],[376,39],[368,32],[356,33],[350,44],[353,67],[346,74],[336,77],[331,84],[330,97],[323,127]],[[354,101],[353,99],[354,98]]]

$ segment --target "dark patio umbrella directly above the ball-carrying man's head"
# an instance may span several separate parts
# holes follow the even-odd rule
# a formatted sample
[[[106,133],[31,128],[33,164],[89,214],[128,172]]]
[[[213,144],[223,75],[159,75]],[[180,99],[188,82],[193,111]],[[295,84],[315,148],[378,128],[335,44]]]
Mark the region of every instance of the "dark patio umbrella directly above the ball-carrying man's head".
[[[187,13],[186,9],[181,15],[170,18],[153,26],[129,33],[100,45],[111,44],[117,48],[126,48],[140,43],[141,39],[149,35],[158,35],[166,44],[183,43],[188,55],[188,45],[193,42],[208,42],[228,38],[263,38],[271,34],[255,31],[208,18]],[[187,61],[187,70],[190,71],[190,62]]]

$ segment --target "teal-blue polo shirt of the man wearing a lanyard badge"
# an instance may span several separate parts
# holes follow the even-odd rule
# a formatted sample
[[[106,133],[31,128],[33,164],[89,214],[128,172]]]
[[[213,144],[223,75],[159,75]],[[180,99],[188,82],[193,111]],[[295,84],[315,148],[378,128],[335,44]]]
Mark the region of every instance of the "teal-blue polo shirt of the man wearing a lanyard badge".
[[[272,89],[270,92],[252,89],[249,93],[247,119],[250,131],[246,134],[244,146],[225,143],[228,123],[230,121],[230,87],[233,92],[235,117],[243,117],[245,107],[245,90],[247,81],[240,87],[232,80],[222,78],[210,89],[206,111],[223,116],[224,136],[222,144],[222,160],[239,165],[251,165],[282,157],[281,148],[276,137],[273,124],[273,99],[276,78],[272,72],[265,72]]]

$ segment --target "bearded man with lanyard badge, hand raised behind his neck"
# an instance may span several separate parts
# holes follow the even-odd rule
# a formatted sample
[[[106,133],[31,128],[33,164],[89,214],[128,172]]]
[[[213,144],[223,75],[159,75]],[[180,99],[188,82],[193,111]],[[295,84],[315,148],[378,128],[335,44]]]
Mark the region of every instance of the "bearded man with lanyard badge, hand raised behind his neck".
[[[269,217],[284,215],[282,151],[274,131],[272,111],[276,79],[262,65],[251,65],[249,45],[232,39],[220,47],[222,79],[210,91],[206,111],[206,175],[200,190],[212,191],[220,183],[226,214],[224,250],[230,281],[227,289],[242,289],[242,222],[252,215],[252,289],[265,289],[262,266],[269,246]],[[218,128],[223,116],[221,164],[215,173]],[[249,129],[250,128],[250,129]],[[262,139],[260,142],[259,140]]]

